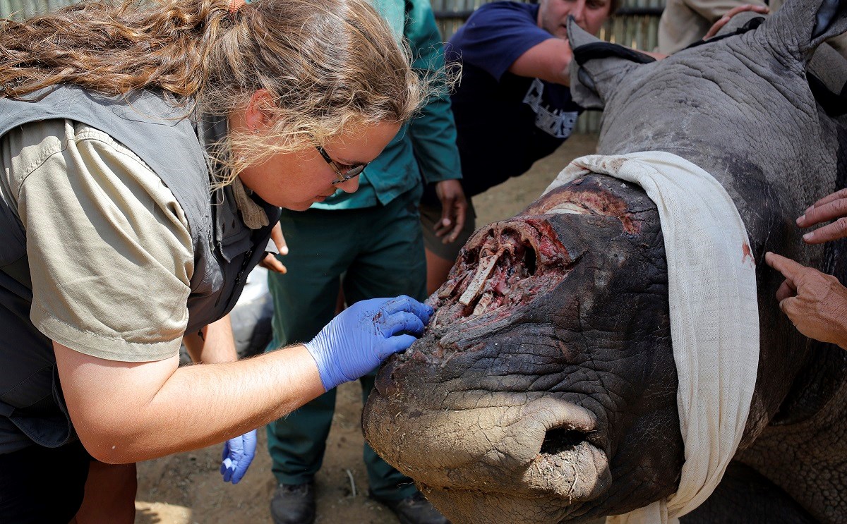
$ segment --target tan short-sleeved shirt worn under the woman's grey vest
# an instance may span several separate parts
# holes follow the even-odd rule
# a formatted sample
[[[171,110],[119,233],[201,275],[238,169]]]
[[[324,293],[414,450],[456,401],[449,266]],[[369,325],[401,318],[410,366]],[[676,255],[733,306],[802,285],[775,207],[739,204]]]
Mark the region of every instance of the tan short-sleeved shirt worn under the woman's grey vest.
[[[194,262],[185,214],[162,180],[71,120],[9,131],[0,162],[0,196],[26,230],[36,328],[108,360],[176,355]]]

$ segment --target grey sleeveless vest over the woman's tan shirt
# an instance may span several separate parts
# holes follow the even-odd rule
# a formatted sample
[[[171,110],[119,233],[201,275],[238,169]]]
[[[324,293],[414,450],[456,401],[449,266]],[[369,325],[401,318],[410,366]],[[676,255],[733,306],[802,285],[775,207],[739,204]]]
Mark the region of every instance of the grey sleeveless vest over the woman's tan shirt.
[[[150,91],[105,97],[58,86],[39,91],[37,99],[27,98],[0,98],[0,136],[27,122],[73,119],[130,148],[168,185],[188,219],[195,264],[187,331],[230,312],[246,273],[264,256],[271,226],[247,228],[231,190],[210,191],[204,140],[198,138],[203,132],[197,130],[191,111]],[[258,203],[271,225],[276,223],[280,209]],[[32,442],[58,447],[76,438],[53,343],[30,322],[31,302],[25,230],[9,202],[0,201],[0,453]]]

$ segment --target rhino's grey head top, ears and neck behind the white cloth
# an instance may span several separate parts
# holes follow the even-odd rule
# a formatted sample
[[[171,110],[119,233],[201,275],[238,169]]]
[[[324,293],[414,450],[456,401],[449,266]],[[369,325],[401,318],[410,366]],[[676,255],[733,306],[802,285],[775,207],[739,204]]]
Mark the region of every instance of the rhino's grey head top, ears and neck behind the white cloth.
[[[773,298],[782,278],[763,262],[776,251],[847,276],[843,240],[804,245],[794,226],[812,202],[847,185],[844,119],[824,112],[807,80],[844,86],[844,59],[816,49],[847,29],[845,7],[817,7],[789,2],[756,30],[657,63],[572,63],[576,101],[604,108],[598,153],[661,150],[706,169],[738,207],[758,266],[762,350],[742,450],[686,522],[847,521],[844,351],[787,326]],[[573,22],[568,35],[578,54],[597,41]]]

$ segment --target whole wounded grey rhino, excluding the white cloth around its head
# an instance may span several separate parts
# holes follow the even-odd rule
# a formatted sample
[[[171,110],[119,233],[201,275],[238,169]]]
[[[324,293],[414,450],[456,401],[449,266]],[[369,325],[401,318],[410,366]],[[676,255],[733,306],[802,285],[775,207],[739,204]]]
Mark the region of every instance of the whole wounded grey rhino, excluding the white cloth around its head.
[[[812,66],[824,69],[809,66],[847,29],[845,10],[792,0],[755,29],[652,63],[568,25],[574,97],[605,108],[598,152],[672,152],[706,169],[745,222],[739,256],[757,264],[750,416],[721,485],[684,522],[847,521],[847,353],[791,326],[774,299],[782,278],[763,263],[776,251],[847,275],[843,242],[807,246],[794,226],[847,182],[839,97],[810,90],[811,76],[831,83],[847,68],[823,48]],[[643,190],[592,174],[551,191],[479,229],[429,301],[429,328],[386,361],[363,424],[451,521],[590,521],[676,491],[667,267]]]

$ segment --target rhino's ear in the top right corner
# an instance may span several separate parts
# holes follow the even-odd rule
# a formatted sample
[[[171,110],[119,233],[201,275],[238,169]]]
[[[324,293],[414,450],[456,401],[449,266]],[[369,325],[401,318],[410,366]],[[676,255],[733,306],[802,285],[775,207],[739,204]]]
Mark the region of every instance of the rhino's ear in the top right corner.
[[[847,31],[847,0],[789,0],[764,29],[805,63],[822,41]]]

